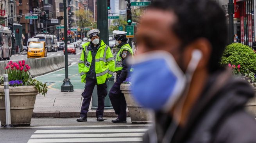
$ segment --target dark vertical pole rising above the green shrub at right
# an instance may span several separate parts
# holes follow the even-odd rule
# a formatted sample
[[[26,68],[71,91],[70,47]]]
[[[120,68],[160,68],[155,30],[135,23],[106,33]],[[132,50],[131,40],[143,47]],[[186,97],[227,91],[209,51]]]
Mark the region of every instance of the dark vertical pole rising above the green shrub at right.
[[[234,40],[234,3],[233,0],[229,0],[228,3],[228,14],[229,14],[229,44],[233,43]]]

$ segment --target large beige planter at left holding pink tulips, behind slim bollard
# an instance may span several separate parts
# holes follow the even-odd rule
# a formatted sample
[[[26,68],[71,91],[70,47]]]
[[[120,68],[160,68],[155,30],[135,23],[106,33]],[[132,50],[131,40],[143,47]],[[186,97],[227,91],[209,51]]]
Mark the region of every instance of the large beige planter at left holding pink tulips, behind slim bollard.
[[[34,86],[9,87],[11,124],[14,126],[29,126],[36,102],[38,90]],[[6,124],[4,87],[0,87],[0,121]]]

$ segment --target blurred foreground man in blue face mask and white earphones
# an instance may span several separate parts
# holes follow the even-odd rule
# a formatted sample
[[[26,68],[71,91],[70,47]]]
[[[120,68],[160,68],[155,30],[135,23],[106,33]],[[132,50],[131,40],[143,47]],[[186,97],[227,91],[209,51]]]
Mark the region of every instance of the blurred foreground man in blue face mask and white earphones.
[[[156,0],[140,21],[132,94],[155,112],[145,143],[255,143],[247,81],[220,68],[226,17],[212,0]]]

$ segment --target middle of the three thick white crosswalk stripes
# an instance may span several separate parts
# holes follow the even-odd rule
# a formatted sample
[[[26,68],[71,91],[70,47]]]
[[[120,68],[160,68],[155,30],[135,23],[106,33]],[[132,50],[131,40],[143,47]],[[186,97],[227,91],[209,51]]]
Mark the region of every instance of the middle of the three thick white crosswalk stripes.
[[[31,138],[83,138],[83,137],[141,137],[144,133],[111,134],[33,134]]]

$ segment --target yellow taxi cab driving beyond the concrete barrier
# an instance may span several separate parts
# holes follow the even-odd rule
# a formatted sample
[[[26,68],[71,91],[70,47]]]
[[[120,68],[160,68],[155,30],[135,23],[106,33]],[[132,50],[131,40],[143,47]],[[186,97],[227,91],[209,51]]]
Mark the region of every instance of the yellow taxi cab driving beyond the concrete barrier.
[[[43,58],[47,57],[47,48],[44,41],[36,41],[29,43],[27,58]]]

